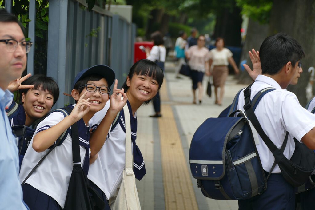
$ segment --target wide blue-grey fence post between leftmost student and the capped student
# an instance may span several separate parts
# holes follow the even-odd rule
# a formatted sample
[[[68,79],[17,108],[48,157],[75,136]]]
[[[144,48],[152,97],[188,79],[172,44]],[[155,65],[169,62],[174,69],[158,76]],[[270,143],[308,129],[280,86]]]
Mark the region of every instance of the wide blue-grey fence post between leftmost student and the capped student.
[[[65,91],[66,80],[67,10],[68,0],[49,2],[47,76],[55,79],[61,93]],[[64,105],[65,97],[60,94],[55,106]]]

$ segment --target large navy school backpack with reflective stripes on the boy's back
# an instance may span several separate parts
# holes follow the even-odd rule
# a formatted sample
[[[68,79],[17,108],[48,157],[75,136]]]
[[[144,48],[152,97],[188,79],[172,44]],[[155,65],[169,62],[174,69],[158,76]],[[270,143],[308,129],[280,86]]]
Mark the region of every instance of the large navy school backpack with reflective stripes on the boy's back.
[[[255,110],[262,96],[252,100]],[[256,149],[258,134],[243,112],[236,117],[239,93],[226,117],[208,118],[196,130],[189,149],[192,176],[204,196],[220,200],[248,199],[266,190],[266,177]]]

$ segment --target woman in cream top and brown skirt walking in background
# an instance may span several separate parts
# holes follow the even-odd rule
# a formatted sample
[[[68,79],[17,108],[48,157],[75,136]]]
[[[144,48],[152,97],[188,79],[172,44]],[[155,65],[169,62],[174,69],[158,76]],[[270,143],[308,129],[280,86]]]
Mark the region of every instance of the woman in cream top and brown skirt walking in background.
[[[238,67],[232,58],[232,52],[224,47],[224,39],[218,37],[215,40],[214,49],[209,52],[209,66],[213,65],[213,86],[215,87],[215,104],[222,105],[222,99],[224,94],[224,84],[229,74],[228,65],[232,65],[236,74],[239,73]],[[208,76],[211,75],[210,71],[206,71]],[[220,88],[220,95],[218,97],[218,88]]]

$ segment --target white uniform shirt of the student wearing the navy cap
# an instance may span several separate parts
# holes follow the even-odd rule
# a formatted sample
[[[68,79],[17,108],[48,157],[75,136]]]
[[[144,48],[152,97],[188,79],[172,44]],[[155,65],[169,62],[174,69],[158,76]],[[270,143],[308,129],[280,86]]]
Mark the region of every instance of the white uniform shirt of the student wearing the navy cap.
[[[74,105],[73,105],[74,106]],[[42,122],[37,125],[35,134],[33,135],[30,146],[26,150],[21,170],[20,182],[22,183],[26,176],[31,172],[33,167],[47,154],[49,149],[43,152],[36,152],[31,146],[34,136],[43,127],[52,127],[63,120],[65,117],[61,112],[52,112]],[[80,145],[81,167],[83,167],[86,150]],[[57,161],[56,161],[57,160]],[[66,195],[70,176],[72,173],[72,139],[67,134],[66,139],[60,146],[56,146],[53,151],[43,160],[37,169],[25,182],[30,184],[37,190],[51,196],[58,202],[60,207],[65,206]]]

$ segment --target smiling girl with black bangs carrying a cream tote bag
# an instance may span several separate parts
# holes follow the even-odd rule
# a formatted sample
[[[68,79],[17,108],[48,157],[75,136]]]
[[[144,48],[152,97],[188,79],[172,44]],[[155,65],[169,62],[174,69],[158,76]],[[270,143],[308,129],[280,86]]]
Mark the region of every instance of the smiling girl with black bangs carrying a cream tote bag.
[[[131,139],[133,145],[134,173],[137,179],[141,179],[146,171],[140,150],[136,145],[137,134],[136,111],[144,103],[147,104],[161,88],[163,83],[163,71],[150,60],[139,60],[130,69],[123,89],[128,97],[127,105],[130,114]],[[108,107],[108,106],[107,106]],[[98,112],[92,120],[97,124],[105,115],[107,108]],[[108,111],[107,111],[108,112]],[[106,113],[107,115],[107,113]],[[104,201],[115,200],[117,188],[122,181],[122,172],[125,167],[125,127],[123,110],[119,118],[112,125],[107,139],[98,153],[98,158],[91,163],[88,178],[94,183],[94,187],[100,192]],[[106,136],[103,136],[106,138]],[[90,183],[91,183],[90,182]],[[111,203],[110,203],[111,204]]]

